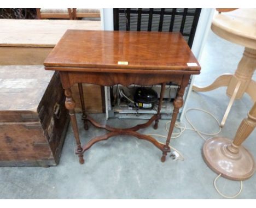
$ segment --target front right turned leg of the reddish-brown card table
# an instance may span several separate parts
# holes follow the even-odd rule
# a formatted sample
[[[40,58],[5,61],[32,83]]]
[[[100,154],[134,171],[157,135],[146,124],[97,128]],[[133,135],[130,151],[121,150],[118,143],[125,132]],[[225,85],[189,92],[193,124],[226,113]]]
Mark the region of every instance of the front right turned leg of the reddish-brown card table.
[[[185,91],[185,85],[182,84],[181,87],[179,87],[179,89],[177,91],[177,95],[176,95],[175,100],[173,101],[174,109],[173,109],[170,128],[169,128],[169,131],[168,131],[168,136],[167,136],[167,139],[166,139],[166,144],[165,144],[164,150],[162,151],[162,157],[161,157],[162,162],[165,162],[165,159],[166,159],[168,147],[169,147],[171,136],[172,136],[172,131],[174,129],[174,125],[175,125],[175,122],[177,120],[177,116],[178,116],[178,113],[179,113],[179,108],[181,108],[183,106],[184,91]]]

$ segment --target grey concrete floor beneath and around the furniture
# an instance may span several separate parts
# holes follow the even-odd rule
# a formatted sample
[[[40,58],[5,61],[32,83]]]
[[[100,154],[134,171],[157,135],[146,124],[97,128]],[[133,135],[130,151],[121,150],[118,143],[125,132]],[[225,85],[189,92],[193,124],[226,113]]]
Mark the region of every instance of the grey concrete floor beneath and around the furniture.
[[[201,75],[196,76],[195,84],[207,85],[224,72],[234,73],[242,52],[242,47],[220,39],[210,32],[201,59]],[[225,88],[207,93],[192,92],[188,108],[205,109],[221,120],[228,101]],[[234,137],[237,127],[246,117],[252,104],[247,95],[235,101],[220,135]],[[215,121],[207,114],[189,112],[188,116],[199,130],[218,130]],[[92,117],[104,122],[104,114],[92,114]],[[83,143],[105,132],[92,126],[85,132],[80,115],[78,120]],[[108,124],[127,127],[143,122],[144,120],[110,119]],[[158,130],[149,127],[140,132],[167,134],[164,130],[165,123],[166,120],[161,120]],[[244,143],[254,158],[255,137],[256,131]],[[161,163],[161,152],[151,143],[129,136],[113,137],[95,144],[86,151],[85,164],[80,165],[78,157],[74,155],[74,138],[69,126],[60,164],[57,167],[0,168],[0,198],[222,199],[213,187],[213,180],[217,174],[202,160],[203,142],[195,132],[185,131],[181,137],[171,140],[171,145],[183,153],[185,160],[173,161],[167,157],[166,162]],[[240,182],[220,178],[218,187],[223,193],[233,195],[240,188]],[[243,182],[243,191],[237,198],[256,198],[256,175]]]

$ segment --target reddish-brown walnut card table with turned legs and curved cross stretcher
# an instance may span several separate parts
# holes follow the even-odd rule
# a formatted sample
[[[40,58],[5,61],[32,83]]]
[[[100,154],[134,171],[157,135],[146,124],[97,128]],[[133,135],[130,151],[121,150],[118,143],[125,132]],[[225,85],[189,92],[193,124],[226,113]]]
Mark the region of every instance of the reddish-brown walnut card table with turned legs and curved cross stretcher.
[[[130,135],[148,140],[162,151],[161,161],[164,162],[167,152],[171,151],[169,143],[179,108],[183,105],[185,87],[189,83],[190,76],[200,74],[201,69],[180,33],[100,30],[67,30],[45,59],[44,66],[46,70],[55,70],[60,73],[66,95],[65,106],[71,117],[77,143],[76,153],[81,164],[84,163],[84,152],[92,145],[117,135]],[[137,130],[148,127],[153,121],[155,121],[154,129],[158,128],[166,82],[174,82],[179,88],[174,100],[166,143],[162,144],[153,137],[138,133]],[[81,83],[107,86],[161,83],[158,112],[145,124],[127,129],[115,129],[108,125],[98,124],[83,111],[85,130],[88,129],[89,121],[96,127],[108,130],[109,133],[92,138],[82,146],[74,113],[75,102],[70,89],[75,83],[79,86]],[[80,96],[83,97],[83,89],[81,87],[79,89]]]

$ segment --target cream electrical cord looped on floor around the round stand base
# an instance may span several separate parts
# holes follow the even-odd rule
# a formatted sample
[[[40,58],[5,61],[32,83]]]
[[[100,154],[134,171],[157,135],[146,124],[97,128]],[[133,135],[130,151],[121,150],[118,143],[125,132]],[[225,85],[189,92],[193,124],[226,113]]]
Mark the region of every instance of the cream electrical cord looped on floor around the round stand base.
[[[202,131],[197,130],[196,127],[195,127],[195,126],[191,123],[191,121],[188,119],[187,113],[188,113],[189,111],[192,111],[192,110],[194,110],[194,111],[202,111],[202,112],[205,112],[205,113],[211,115],[211,117],[213,117],[214,120],[216,120],[216,122],[218,123],[218,126],[219,126],[218,132],[207,133],[207,132],[202,132]],[[200,109],[200,108],[189,108],[189,109],[187,109],[187,111],[185,111],[185,119],[188,121],[188,123],[190,124],[190,126],[191,126],[192,128],[188,128],[184,123],[175,123],[174,127],[176,127],[177,129],[179,129],[179,132],[178,132],[178,133],[172,133],[172,135],[174,135],[173,137],[171,137],[172,139],[178,138],[179,136],[181,136],[182,133],[183,133],[185,130],[195,131],[197,134],[199,134],[199,136],[200,136],[203,140],[206,140],[206,138],[203,137],[202,134],[204,134],[204,135],[206,135],[206,136],[214,136],[214,135],[219,134],[220,131],[222,131],[222,128],[220,127],[220,123],[219,123],[218,119],[217,119],[212,113],[210,113],[210,112],[208,112],[208,111],[205,111],[205,110],[203,110],[203,109]],[[167,132],[168,132],[167,124],[169,124],[169,123],[171,123],[171,121],[168,121],[168,122],[165,124],[165,130],[166,130]],[[181,125],[183,125],[183,126],[181,126]],[[148,136],[158,136],[158,137],[167,138],[167,136],[162,136],[162,135],[160,135],[160,134],[148,134]],[[158,142],[159,142],[159,141],[158,141]],[[162,143],[162,142],[159,142],[159,143],[164,144],[164,143]],[[174,151],[178,152],[178,154],[182,157],[181,160],[182,160],[182,161],[184,160],[184,156],[181,154],[181,152],[179,152],[177,149],[173,148],[173,147],[170,146],[170,145],[169,145],[169,147],[170,147],[171,149],[173,149]],[[237,194],[235,194],[235,195],[229,197],[229,196],[226,196],[226,195],[224,195],[223,193],[221,193],[221,192],[219,191],[219,189],[217,188],[217,186],[216,186],[216,181],[217,181],[217,179],[218,179],[221,175],[222,175],[222,174],[219,174],[219,175],[217,176],[217,178],[214,180],[214,188],[216,189],[216,191],[217,191],[220,195],[222,195],[222,197],[225,197],[225,198],[228,198],[228,199],[234,199],[234,198],[236,198],[236,197],[242,192],[242,188],[243,188],[243,183],[242,183],[242,181],[240,181],[240,182],[241,182],[241,187],[240,187],[239,192],[238,192]]]

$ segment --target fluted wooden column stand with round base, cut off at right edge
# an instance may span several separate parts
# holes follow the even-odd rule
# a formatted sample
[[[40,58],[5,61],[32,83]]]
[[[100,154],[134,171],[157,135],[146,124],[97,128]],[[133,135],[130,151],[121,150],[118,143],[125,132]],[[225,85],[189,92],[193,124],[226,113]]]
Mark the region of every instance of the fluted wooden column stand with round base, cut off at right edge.
[[[246,180],[255,171],[252,154],[241,144],[256,126],[256,102],[248,117],[243,119],[233,141],[225,137],[208,139],[203,145],[202,156],[216,173],[231,180]]]

